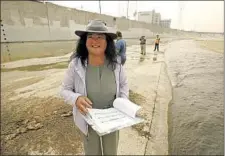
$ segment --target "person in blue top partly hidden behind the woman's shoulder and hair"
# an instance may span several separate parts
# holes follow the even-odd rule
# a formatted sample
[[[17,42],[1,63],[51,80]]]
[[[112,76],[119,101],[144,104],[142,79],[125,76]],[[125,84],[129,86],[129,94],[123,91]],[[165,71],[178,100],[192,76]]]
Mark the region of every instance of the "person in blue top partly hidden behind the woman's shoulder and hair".
[[[121,58],[121,64],[124,65],[126,62],[126,41],[122,38],[122,33],[120,31],[117,31],[116,35],[116,51]]]

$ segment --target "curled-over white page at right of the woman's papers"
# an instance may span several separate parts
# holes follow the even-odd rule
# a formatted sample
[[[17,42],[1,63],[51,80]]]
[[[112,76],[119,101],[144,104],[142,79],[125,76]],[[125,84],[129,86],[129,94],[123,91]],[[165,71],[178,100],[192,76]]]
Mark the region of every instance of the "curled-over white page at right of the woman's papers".
[[[135,118],[137,111],[141,108],[130,100],[124,98],[116,98],[113,102],[113,106],[132,118]]]

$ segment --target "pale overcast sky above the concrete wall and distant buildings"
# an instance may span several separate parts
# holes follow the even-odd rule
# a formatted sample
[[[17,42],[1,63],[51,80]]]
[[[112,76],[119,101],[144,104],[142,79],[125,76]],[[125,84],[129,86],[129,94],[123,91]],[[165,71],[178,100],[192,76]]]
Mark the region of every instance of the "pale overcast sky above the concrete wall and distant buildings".
[[[127,15],[128,1],[100,1],[102,14]],[[99,1],[54,1],[54,4],[99,13]],[[182,12],[180,11],[182,9]],[[129,1],[130,19],[137,11],[155,9],[162,19],[171,19],[171,28],[203,32],[224,32],[223,1]]]

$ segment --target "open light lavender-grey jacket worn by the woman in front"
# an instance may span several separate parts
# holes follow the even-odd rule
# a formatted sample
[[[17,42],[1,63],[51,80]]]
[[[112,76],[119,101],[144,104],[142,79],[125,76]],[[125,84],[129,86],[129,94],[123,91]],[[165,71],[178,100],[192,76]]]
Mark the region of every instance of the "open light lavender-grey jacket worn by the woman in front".
[[[60,90],[60,96],[65,100],[66,103],[71,105],[75,104],[77,98],[81,95],[87,96],[85,75],[86,66],[83,67],[81,60],[74,58],[65,73],[65,77],[62,83],[62,88]],[[124,72],[123,66],[121,64],[116,65],[114,70],[116,78],[117,92],[116,97],[129,98],[129,89],[126,74]],[[73,107],[73,117],[76,126],[85,134],[88,134],[88,124],[83,119],[82,114],[76,108]]]

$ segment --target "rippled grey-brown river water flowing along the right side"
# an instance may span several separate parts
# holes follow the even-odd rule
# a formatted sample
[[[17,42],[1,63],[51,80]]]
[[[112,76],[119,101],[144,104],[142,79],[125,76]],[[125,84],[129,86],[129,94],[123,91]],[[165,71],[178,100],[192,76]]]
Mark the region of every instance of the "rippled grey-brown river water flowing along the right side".
[[[183,40],[168,45],[165,59],[173,85],[169,154],[224,154],[223,54]]]

